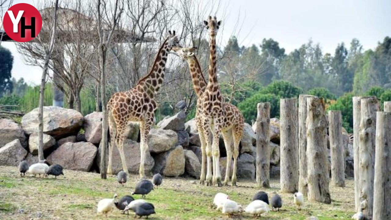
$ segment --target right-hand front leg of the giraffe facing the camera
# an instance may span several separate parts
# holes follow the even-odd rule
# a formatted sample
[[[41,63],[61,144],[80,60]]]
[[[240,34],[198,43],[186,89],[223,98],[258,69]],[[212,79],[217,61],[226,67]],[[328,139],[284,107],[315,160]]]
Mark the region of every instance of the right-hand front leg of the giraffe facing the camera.
[[[215,124],[213,129],[213,144],[212,144],[212,155],[213,155],[213,184],[217,186],[222,186],[221,184],[221,174],[220,174],[220,149],[219,149],[219,139],[221,132],[221,123],[218,122]]]

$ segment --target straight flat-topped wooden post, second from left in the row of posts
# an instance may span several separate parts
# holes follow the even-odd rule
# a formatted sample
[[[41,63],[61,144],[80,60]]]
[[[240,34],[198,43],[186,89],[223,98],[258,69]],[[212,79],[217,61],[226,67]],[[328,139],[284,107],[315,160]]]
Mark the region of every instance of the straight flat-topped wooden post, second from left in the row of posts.
[[[297,99],[280,99],[280,185],[284,193],[294,193],[299,184]]]

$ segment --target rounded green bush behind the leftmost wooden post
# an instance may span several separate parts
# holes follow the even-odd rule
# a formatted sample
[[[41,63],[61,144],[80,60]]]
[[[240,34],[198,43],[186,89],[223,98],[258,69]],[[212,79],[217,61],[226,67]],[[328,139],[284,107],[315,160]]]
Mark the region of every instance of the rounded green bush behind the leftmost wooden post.
[[[270,103],[270,117],[278,117],[280,115],[280,98],[274,94],[262,94],[262,92],[258,92],[244,99],[238,105],[247,123],[251,124],[251,120],[256,120],[256,105],[260,102]]]

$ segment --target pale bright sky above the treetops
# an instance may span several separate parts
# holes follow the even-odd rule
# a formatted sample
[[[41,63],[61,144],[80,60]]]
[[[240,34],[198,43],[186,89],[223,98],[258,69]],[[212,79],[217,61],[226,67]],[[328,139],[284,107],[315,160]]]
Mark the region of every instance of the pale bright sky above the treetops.
[[[14,0],[14,4],[23,2],[34,5],[31,0]],[[367,50],[391,36],[391,0],[221,2],[216,15],[218,19],[224,19],[224,29],[219,32],[223,45],[232,34],[244,46],[259,45],[263,38],[273,38],[289,53],[312,39],[314,43],[320,43],[324,53],[334,54],[338,43],[344,42],[349,47],[353,38],[359,39]],[[10,49],[14,56],[12,76],[38,85],[41,69],[25,65],[14,43],[2,42],[2,46]]]

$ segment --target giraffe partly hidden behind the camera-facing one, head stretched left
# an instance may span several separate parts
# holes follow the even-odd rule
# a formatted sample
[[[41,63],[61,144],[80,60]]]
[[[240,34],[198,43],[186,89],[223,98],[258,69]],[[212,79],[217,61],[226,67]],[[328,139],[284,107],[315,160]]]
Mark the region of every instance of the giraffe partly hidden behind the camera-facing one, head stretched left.
[[[197,130],[199,133],[200,141],[201,141],[201,150],[202,150],[202,164],[201,164],[201,176],[200,176],[200,183],[204,183],[205,180],[205,160],[206,160],[206,153],[205,153],[205,137],[204,137],[204,131],[202,126],[202,120],[201,120],[201,96],[204,93],[206,89],[206,80],[204,78],[204,75],[202,74],[201,66],[199,65],[199,62],[197,60],[197,57],[194,54],[195,47],[193,48],[180,48],[180,47],[174,47],[172,50],[176,52],[180,57],[187,60],[187,63],[189,65],[190,74],[192,76],[192,82],[193,82],[193,88],[195,91],[195,94],[197,95],[197,107],[195,112],[195,121],[197,125]],[[225,179],[223,185],[228,185],[228,182],[230,181],[230,168],[231,168],[231,158],[232,158],[232,152],[233,152],[233,160],[234,160],[234,169],[232,173],[232,179],[231,183],[233,186],[236,185],[236,161],[239,156],[239,143],[240,139],[242,139],[243,136],[243,127],[244,127],[244,117],[240,110],[231,103],[224,103],[224,122],[221,128],[222,135],[224,138],[224,145],[227,151],[227,168],[225,173]],[[232,148],[232,142],[233,142],[233,148]]]

